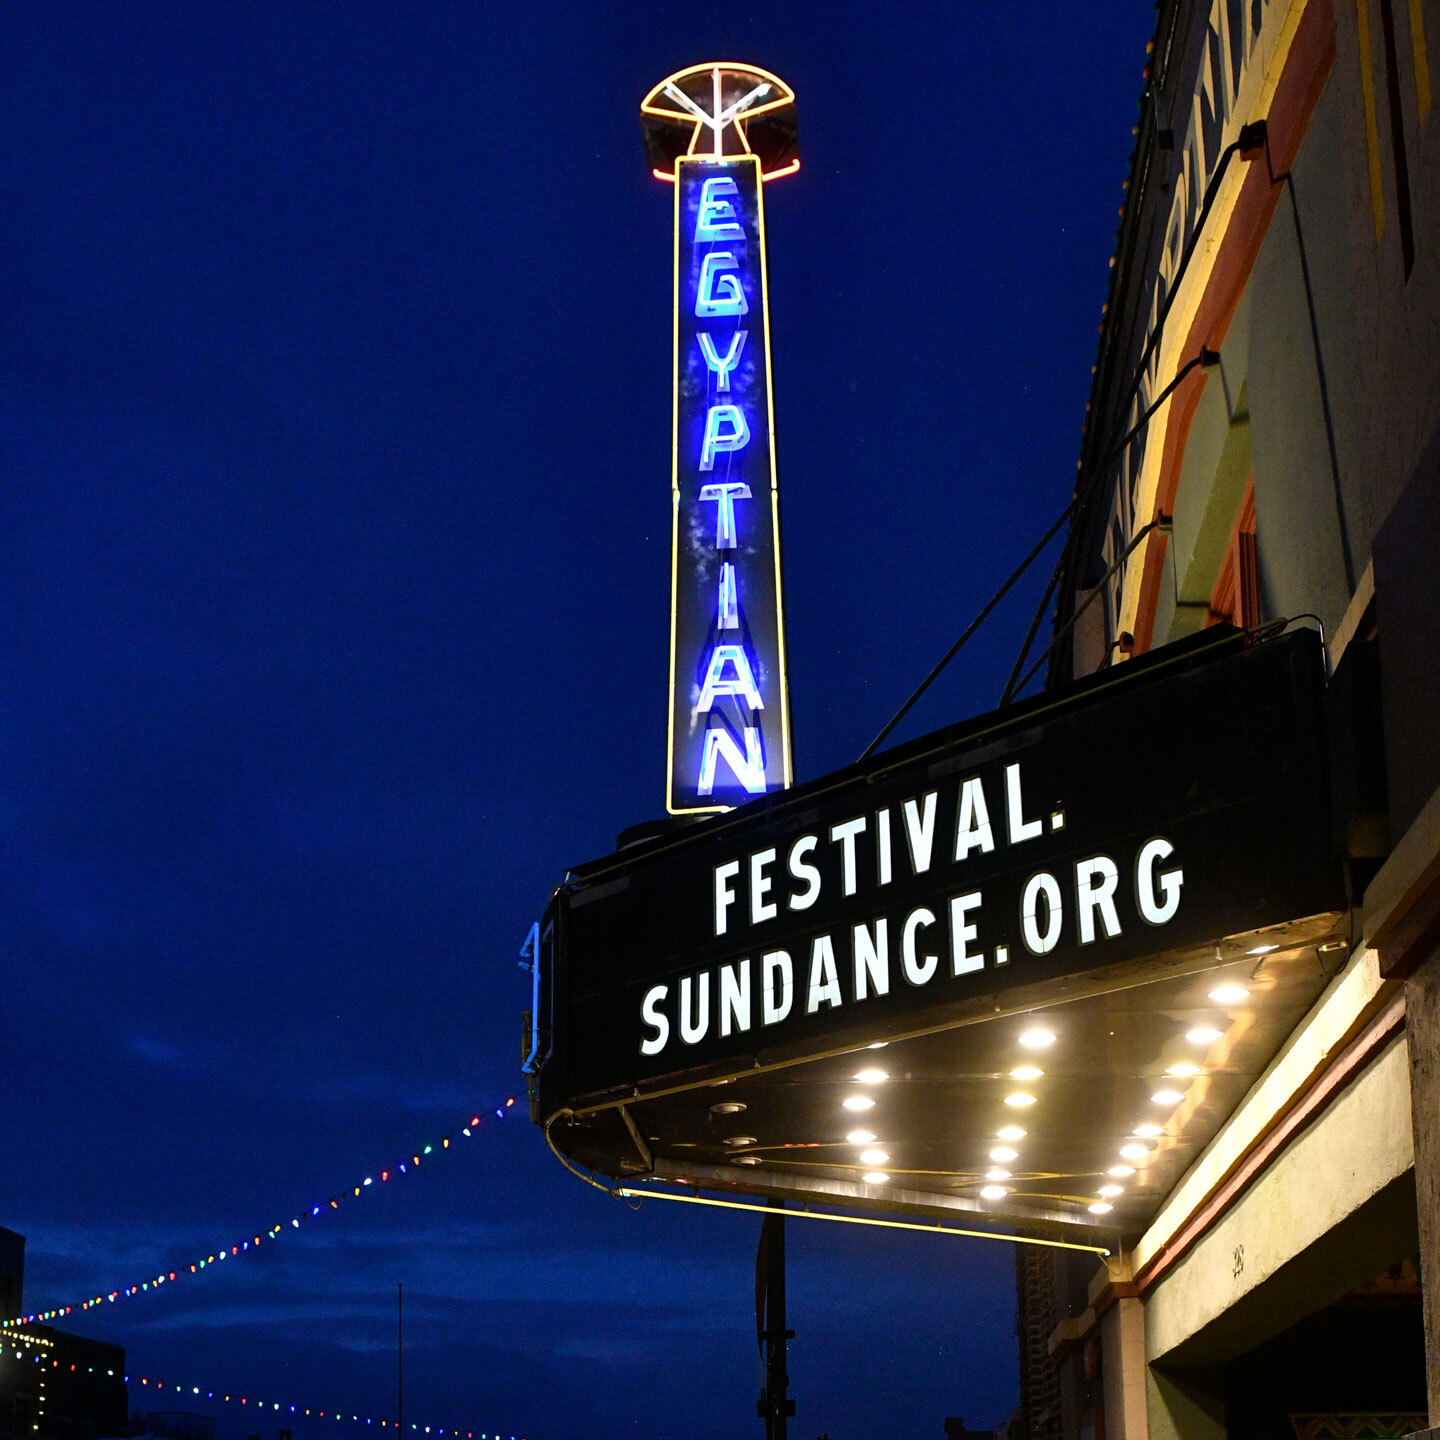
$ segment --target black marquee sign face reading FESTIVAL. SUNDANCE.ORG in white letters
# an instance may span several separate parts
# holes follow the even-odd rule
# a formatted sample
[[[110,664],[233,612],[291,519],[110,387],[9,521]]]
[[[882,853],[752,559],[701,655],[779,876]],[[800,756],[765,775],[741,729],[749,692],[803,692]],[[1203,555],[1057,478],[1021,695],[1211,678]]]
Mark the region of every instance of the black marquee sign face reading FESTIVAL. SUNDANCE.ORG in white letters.
[[[1310,632],[1211,636],[572,871],[546,1104],[1128,985],[1342,909],[1322,690]]]

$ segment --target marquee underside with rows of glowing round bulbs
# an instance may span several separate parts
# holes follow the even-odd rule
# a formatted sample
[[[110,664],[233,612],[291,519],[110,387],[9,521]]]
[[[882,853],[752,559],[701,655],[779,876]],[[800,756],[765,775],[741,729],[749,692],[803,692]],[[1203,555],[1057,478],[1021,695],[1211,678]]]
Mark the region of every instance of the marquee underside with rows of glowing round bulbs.
[[[694,1185],[793,1204],[988,1217],[1037,1233],[1135,1234],[1234,1112],[1341,958],[1329,912],[1164,956],[1120,988],[562,1117],[570,1159],[629,1185]],[[1264,955],[1248,950],[1280,946]],[[1227,986],[1236,988],[1227,996]],[[1248,994],[1240,999],[1238,991]],[[1214,994],[1221,1001],[1211,998]],[[1048,1031],[1028,1048],[1020,1037]],[[1188,1038],[1215,1031],[1215,1038]],[[1022,1067],[1044,1071],[1015,1080]],[[1194,1066],[1194,1074],[1172,1074]],[[881,1081],[854,1077],[883,1070]],[[1007,1096],[1030,1094],[1028,1106]],[[1155,1096],[1181,1099],[1155,1100]],[[868,1109],[847,1109],[850,1097]],[[721,1107],[743,1106],[740,1110]],[[631,1123],[632,1122],[634,1130]],[[1158,1128],[1149,1133],[1148,1128]],[[1024,1136],[1005,1139],[1001,1130]],[[1143,1133],[1136,1135],[1136,1129]],[[865,1130],[873,1142],[850,1142]],[[1122,1156],[1122,1148],[1132,1149]],[[1143,1149],[1143,1156],[1139,1149]],[[884,1159],[863,1159],[867,1149]],[[1015,1159],[991,1158],[1011,1149]],[[1130,1175],[1112,1175],[1126,1166]],[[1009,1175],[986,1179],[986,1172]],[[867,1174],[884,1181],[867,1182]],[[985,1185],[1007,1194],[984,1198]],[[1103,1187],[1119,1194],[1102,1195]],[[1090,1205],[1113,1210],[1092,1214]]]

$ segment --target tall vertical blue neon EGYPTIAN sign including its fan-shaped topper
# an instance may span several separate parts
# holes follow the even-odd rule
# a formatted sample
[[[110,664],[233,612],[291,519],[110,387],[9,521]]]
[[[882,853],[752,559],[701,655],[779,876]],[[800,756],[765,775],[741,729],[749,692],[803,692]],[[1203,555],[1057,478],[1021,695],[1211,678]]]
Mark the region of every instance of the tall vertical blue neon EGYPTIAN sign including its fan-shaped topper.
[[[795,95],[776,75],[694,65],[641,104],[674,187],[671,814],[788,789],[765,183],[792,174]]]

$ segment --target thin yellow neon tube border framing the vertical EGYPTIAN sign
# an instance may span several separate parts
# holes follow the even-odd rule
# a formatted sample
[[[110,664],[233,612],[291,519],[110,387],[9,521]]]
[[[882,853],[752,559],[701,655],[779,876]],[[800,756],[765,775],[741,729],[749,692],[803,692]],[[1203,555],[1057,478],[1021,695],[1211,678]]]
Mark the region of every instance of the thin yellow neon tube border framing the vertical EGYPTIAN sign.
[[[678,156],[675,158],[675,228],[674,282],[671,291],[671,406],[670,406],[670,708],[665,716],[665,809],[671,815],[723,815],[733,805],[693,805],[675,809],[671,804],[675,788],[675,619],[680,585],[680,167],[685,163],[707,166],[755,166],[756,225],[760,235],[760,314],[765,320],[766,419],[770,428],[770,533],[775,537],[775,632],[780,665],[780,746],[783,750],[783,785],[795,783],[791,755],[791,678],[785,661],[785,600],[780,593],[780,497],[779,469],[775,461],[775,369],[770,364],[770,278],[765,245],[765,174],[759,156]]]

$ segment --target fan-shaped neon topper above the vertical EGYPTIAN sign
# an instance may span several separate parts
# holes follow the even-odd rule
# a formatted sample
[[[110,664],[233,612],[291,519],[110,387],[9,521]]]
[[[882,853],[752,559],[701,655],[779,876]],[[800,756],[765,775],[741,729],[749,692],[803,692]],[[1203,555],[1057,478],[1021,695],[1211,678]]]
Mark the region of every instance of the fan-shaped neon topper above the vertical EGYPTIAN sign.
[[[681,156],[756,156],[765,180],[801,167],[795,91],[755,65],[675,71],[641,101],[639,114],[657,180],[672,183]]]

